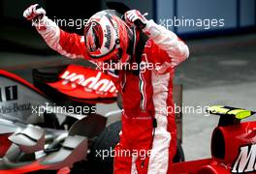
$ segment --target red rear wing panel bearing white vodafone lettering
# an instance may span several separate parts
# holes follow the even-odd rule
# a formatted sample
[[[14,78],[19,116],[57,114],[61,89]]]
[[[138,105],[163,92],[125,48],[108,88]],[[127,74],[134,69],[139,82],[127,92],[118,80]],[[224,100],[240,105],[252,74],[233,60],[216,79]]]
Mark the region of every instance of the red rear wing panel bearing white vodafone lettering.
[[[115,102],[117,90],[109,75],[78,65],[70,65],[59,74],[59,80],[48,85],[73,101]],[[94,101],[95,102],[95,101]]]

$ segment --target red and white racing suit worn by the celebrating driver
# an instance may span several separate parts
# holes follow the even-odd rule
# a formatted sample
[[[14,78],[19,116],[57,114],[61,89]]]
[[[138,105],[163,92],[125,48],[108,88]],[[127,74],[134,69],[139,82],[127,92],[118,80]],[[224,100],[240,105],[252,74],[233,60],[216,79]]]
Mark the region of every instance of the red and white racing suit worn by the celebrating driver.
[[[82,36],[61,30],[47,16],[42,21],[48,25],[37,29],[52,49],[69,58],[88,59]],[[175,33],[152,20],[144,33],[149,39],[142,62],[154,64],[153,68],[138,75],[129,71],[109,73],[124,108],[120,142],[114,149],[114,173],[118,174],[168,173],[176,154],[175,113],[170,111],[174,108],[173,76],[174,68],[188,57],[189,50]]]

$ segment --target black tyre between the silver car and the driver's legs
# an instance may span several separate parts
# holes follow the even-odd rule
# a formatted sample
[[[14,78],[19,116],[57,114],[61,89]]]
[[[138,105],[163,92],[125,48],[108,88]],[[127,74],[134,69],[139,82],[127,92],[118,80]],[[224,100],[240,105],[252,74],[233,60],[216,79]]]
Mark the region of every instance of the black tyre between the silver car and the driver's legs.
[[[98,152],[111,153],[115,145],[119,142],[119,131],[121,131],[121,122],[117,121],[107,127],[95,139],[88,154],[88,160],[91,163],[94,173],[112,174],[113,172],[113,156],[102,158],[97,156]]]

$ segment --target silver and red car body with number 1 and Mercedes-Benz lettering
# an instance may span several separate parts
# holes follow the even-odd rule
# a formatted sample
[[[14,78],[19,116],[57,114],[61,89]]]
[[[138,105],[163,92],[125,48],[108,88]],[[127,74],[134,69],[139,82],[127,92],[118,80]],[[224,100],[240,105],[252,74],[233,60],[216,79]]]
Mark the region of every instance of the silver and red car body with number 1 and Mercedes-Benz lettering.
[[[56,172],[63,167],[73,168],[72,171],[82,170],[76,167],[76,162],[85,161],[88,151],[101,142],[93,141],[93,138],[108,135],[113,127],[120,130],[117,129],[119,122],[107,123],[107,117],[95,112],[96,97],[101,99],[101,96],[92,91],[85,97],[87,95],[93,102],[83,103],[84,96],[80,98],[82,102],[77,102],[79,99],[68,100],[65,95],[54,100],[6,71],[0,71],[0,82],[0,173],[27,173],[43,169]],[[107,93],[105,95],[108,96]],[[116,100],[115,91],[110,99]],[[56,105],[57,102],[63,104]],[[105,131],[106,127],[108,131]],[[108,146],[117,143],[118,133],[114,135]],[[111,171],[112,165],[109,166]],[[85,168],[90,171],[89,167]]]

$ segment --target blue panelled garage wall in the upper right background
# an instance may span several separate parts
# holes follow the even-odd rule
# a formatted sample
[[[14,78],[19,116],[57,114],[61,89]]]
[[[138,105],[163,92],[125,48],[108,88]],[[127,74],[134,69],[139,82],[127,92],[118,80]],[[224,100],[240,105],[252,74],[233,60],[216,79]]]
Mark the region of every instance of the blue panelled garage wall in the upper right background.
[[[256,27],[256,0],[154,0],[158,23],[167,19],[224,19],[224,26],[169,26],[178,35],[214,34]],[[165,21],[167,24],[167,21]],[[170,24],[171,22],[169,22]]]

